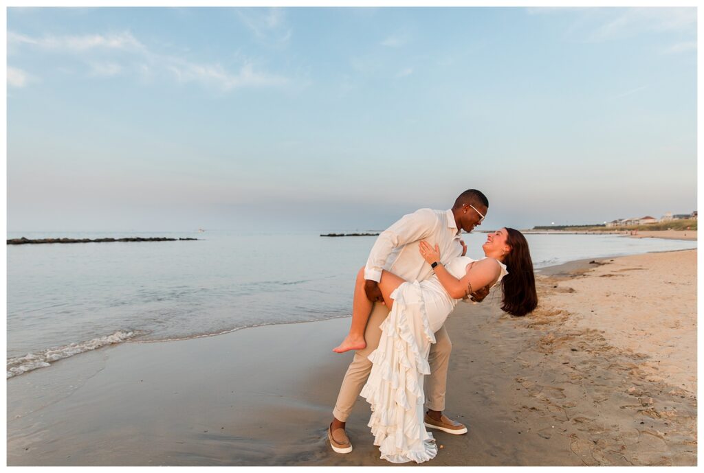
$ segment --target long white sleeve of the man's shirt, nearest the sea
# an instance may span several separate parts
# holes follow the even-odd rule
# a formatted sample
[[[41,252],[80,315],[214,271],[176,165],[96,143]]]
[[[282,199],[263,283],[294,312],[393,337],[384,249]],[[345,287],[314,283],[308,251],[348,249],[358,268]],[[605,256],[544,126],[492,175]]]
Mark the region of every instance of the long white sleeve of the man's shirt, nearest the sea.
[[[420,209],[413,214],[402,216],[400,220],[386,228],[379,234],[372,247],[364,269],[364,278],[378,283],[382,278],[382,269],[389,259],[389,254],[398,247],[431,236],[437,221],[432,209]]]

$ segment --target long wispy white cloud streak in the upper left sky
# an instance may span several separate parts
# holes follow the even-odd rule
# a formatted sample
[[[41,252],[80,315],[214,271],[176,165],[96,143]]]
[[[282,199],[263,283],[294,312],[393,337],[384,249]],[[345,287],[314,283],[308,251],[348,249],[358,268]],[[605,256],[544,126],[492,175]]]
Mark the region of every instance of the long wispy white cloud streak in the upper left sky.
[[[272,17],[268,21],[277,24],[279,20]],[[132,72],[141,79],[153,82],[160,74],[166,74],[178,82],[199,82],[206,86],[216,86],[223,91],[241,87],[281,86],[289,82],[287,77],[257,70],[251,60],[244,60],[239,70],[232,72],[219,63],[196,63],[180,56],[151,51],[130,32],[41,38],[8,32],[8,40],[15,45],[41,48],[56,54],[82,53],[78,56],[84,61],[90,77],[110,77]],[[99,60],[96,60],[93,53],[98,52],[96,50],[99,50]],[[106,59],[109,51],[120,54],[113,54],[112,58]],[[136,65],[134,59],[137,59]],[[26,84],[27,80],[22,80],[21,77],[23,76],[15,74],[15,83]]]

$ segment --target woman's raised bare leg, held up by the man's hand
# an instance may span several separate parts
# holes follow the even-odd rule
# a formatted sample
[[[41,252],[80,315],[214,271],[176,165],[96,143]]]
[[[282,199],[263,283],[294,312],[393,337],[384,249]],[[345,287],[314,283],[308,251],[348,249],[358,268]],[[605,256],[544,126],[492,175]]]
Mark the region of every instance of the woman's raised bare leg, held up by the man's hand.
[[[382,291],[386,307],[391,310],[394,301],[391,299],[391,292],[396,290],[406,281],[399,278],[394,273],[382,271],[382,278],[379,280],[379,290]],[[367,293],[364,290],[364,268],[357,273],[357,280],[354,287],[354,296],[352,299],[352,325],[347,337],[341,344],[336,346],[332,351],[335,353],[344,353],[349,350],[361,350],[366,348],[367,342],[364,339],[364,331],[367,328],[367,321],[370,313],[372,313],[373,303],[367,299]]]

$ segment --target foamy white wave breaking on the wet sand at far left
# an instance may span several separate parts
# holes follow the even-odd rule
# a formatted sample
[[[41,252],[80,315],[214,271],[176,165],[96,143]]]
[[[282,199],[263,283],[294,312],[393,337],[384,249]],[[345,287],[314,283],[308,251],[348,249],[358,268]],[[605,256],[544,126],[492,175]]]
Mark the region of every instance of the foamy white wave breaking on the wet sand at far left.
[[[22,375],[27,371],[36,370],[37,368],[46,368],[46,366],[51,365],[52,361],[62,360],[69,356],[99,349],[102,346],[122,343],[133,337],[137,337],[137,335],[141,335],[141,332],[136,330],[132,332],[122,332],[118,330],[118,332],[113,333],[113,335],[94,338],[88,342],[56,346],[44,351],[28,353],[25,356],[8,358],[7,377],[11,378],[13,376]]]

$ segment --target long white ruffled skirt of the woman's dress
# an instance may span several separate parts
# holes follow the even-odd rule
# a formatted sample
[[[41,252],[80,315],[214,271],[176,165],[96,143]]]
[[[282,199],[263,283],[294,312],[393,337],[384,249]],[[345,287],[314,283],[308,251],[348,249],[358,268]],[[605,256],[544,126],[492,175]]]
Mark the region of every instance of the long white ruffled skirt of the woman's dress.
[[[420,284],[403,283],[392,294],[394,306],[380,326],[379,346],[369,355],[372,372],[362,389],[372,408],[367,424],[381,458],[393,463],[431,460],[435,440],[423,423],[423,377],[435,335],[430,329]]]

